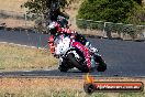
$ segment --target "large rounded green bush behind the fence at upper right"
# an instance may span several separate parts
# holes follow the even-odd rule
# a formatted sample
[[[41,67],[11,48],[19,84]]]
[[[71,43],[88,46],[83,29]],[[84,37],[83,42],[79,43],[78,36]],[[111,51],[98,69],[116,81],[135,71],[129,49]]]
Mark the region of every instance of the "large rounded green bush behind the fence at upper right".
[[[141,8],[134,0],[85,0],[78,11],[77,18],[130,23],[130,17],[135,15]],[[143,10],[142,10],[143,11]],[[135,18],[135,17],[134,17]],[[140,23],[136,22],[135,23]]]

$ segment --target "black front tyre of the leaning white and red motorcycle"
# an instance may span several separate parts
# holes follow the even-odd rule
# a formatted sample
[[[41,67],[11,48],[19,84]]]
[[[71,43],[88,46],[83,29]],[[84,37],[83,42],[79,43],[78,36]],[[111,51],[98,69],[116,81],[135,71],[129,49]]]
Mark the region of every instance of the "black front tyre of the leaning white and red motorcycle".
[[[83,72],[83,73],[88,73],[89,68],[87,65],[83,65],[81,63],[79,63],[76,58],[75,55],[69,53],[68,54],[68,60],[72,63],[72,65],[75,65],[79,71]]]

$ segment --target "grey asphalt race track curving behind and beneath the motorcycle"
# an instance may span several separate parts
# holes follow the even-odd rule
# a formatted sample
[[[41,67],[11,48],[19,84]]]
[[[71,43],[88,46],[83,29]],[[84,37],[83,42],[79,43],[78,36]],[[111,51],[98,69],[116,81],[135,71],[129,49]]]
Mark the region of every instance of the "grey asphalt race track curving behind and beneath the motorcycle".
[[[10,42],[15,44],[40,46],[47,45],[47,34],[35,34],[16,31],[0,31],[0,42]],[[144,77],[145,76],[145,42],[89,39],[91,44],[99,48],[108,64],[108,69],[103,73],[93,72],[94,76],[121,76],[121,77]],[[57,68],[30,72],[3,72],[0,76],[56,76],[56,77],[76,77],[82,76],[77,69],[60,73]]]

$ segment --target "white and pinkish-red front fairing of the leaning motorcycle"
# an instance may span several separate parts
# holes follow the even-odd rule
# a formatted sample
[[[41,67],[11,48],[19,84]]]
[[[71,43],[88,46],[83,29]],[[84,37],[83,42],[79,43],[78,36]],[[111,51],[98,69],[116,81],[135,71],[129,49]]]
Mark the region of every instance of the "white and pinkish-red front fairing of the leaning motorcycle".
[[[89,50],[86,46],[83,46],[81,43],[75,42],[75,40],[71,40],[69,36],[66,36],[64,34],[56,36],[54,43],[56,45],[55,55],[57,56],[66,55],[66,53],[72,53],[76,58],[79,58],[80,56],[76,51],[69,51],[70,48],[75,48],[75,47],[79,48],[81,52],[83,52],[88,63],[88,67],[90,67],[91,62],[90,62]]]

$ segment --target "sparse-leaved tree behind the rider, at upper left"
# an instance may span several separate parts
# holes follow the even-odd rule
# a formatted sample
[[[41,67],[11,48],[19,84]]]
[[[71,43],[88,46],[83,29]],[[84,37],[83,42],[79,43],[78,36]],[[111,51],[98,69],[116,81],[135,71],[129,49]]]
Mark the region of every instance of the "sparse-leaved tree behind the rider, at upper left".
[[[44,30],[47,21],[47,15],[52,3],[58,3],[60,9],[69,6],[75,0],[27,0],[22,8],[27,8],[27,13],[33,13],[33,20],[35,20],[36,28]]]

